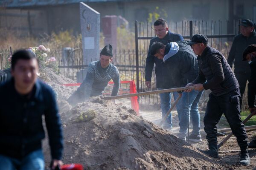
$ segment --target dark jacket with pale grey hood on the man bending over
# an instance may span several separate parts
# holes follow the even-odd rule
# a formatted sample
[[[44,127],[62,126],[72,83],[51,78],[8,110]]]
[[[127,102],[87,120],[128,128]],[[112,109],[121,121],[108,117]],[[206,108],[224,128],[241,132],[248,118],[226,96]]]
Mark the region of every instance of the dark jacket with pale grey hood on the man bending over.
[[[186,41],[177,41],[177,44],[179,45],[179,51],[172,57],[168,57],[168,54],[166,54],[165,58],[168,57],[168,59],[164,63],[168,68],[168,72],[165,74],[170,76],[169,81],[175,85],[173,88],[184,87],[187,80],[192,82],[198,76],[197,57],[190,45],[187,45]],[[167,49],[169,51],[166,46],[165,50]]]

